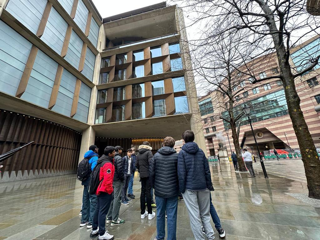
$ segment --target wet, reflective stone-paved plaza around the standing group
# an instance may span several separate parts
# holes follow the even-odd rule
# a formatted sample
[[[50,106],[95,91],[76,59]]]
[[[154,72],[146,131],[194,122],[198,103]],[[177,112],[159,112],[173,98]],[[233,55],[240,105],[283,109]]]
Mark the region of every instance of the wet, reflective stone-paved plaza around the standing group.
[[[210,163],[212,200],[226,230],[225,239],[319,240],[320,208],[289,195],[307,193],[301,161],[269,160],[265,165],[269,179],[263,177],[258,162],[253,165],[257,178],[236,173],[231,164]],[[0,184],[0,240],[89,239],[91,230],[79,228],[82,191],[75,175]],[[134,194],[129,206],[120,208],[125,223],[107,224],[107,229],[117,240],[154,239],[156,218],[140,219],[138,174]],[[177,239],[194,239],[183,201],[178,203],[177,227]]]

